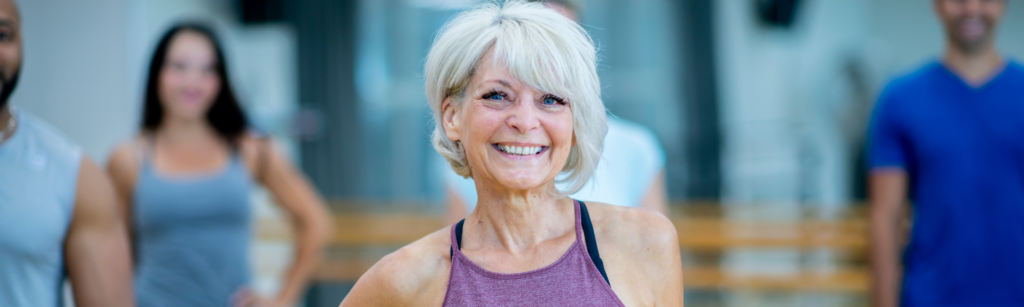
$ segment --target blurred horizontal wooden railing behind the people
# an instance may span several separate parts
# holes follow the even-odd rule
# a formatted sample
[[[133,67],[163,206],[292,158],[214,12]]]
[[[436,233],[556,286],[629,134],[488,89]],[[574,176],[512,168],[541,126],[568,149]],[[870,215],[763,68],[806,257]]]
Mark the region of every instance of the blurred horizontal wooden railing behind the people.
[[[688,255],[714,259],[735,250],[783,250],[829,251],[843,256],[826,270],[801,268],[773,274],[742,272],[714,263],[684,262],[688,289],[866,292],[868,273],[863,262],[867,225],[862,207],[834,212],[827,219],[816,210],[806,208],[776,210],[767,206],[677,205],[674,209],[671,219],[679,233],[680,248]],[[783,219],[777,218],[780,210],[786,211]],[[759,212],[771,218],[760,218]],[[744,218],[730,217],[735,215]],[[335,226],[331,249],[359,252],[395,250],[446,227],[447,223],[432,215],[347,213],[335,217]],[[291,239],[287,223],[261,220],[257,230],[260,240]],[[383,256],[353,257],[351,254],[328,253],[327,261],[316,270],[314,278],[355,280]]]

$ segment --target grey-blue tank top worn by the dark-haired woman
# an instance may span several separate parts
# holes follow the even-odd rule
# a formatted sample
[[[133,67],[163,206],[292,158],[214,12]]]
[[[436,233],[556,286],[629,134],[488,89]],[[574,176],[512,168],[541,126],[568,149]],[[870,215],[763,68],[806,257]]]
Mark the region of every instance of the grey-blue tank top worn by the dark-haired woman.
[[[160,174],[150,161],[132,207],[138,306],[230,306],[250,279],[249,173],[238,155],[187,176]]]

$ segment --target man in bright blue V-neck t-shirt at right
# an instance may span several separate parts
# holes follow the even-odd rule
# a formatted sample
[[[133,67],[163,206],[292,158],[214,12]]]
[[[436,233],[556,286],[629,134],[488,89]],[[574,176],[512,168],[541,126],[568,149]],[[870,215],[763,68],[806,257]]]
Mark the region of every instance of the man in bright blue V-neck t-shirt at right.
[[[876,105],[876,306],[1024,306],[1024,67],[993,39],[1007,5],[934,0],[944,57],[890,83]]]

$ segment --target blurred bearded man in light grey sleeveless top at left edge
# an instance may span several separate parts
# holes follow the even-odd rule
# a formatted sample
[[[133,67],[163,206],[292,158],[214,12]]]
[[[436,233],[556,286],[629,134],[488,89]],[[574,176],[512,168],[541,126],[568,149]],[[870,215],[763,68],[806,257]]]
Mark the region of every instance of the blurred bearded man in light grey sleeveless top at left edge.
[[[22,20],[0,0],[0,306],[134,306],[126,217],[113,185],[45,123],[8,105]]]

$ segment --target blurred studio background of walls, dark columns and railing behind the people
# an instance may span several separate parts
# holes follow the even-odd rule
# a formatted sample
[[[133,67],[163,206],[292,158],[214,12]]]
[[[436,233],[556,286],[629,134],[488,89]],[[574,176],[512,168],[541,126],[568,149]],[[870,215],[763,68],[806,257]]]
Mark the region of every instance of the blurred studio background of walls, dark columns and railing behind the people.
[[[866,304],[867,116],[936,59],[928,0],[582,0],[603,97],[666,150],[689,306]],[[444,226],[422,79],[436,30],[477,0],[20,0],[12,103],[104,163],[137,131],[145,64],[174,21],[217,26],[236,90],[329,200],[338,230],[306,297],[337,306],[376,259]],[[998,47],[1024,57],[1024,6]],[[253,195],[256,288],[290,257]]]

